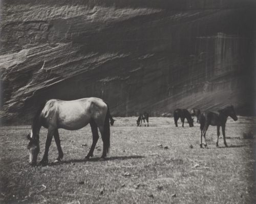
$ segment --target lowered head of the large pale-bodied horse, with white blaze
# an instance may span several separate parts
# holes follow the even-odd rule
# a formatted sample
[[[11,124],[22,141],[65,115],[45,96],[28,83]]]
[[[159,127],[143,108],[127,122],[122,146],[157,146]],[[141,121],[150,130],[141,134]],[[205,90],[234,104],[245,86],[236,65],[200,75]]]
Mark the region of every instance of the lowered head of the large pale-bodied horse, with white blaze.
[[[40,151],[39,139],[31,138],[30,134],[27,135],[27,138],[29,140],[29,144],[27,147],[29,150],[29,164],[34,166],[34,165],[36,165],[37,156]],[[38,137],[36,137],[36,138],[38,138]]]

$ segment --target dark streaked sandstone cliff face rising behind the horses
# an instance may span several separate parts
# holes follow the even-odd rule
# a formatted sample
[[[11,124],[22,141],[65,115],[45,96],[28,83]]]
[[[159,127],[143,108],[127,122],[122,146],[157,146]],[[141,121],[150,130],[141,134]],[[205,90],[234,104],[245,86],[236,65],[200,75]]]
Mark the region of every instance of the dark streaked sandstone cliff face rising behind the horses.
[[[115,116],[253,113],[253,1],[12,1],[1,6],[1,118],[100,97]]]

